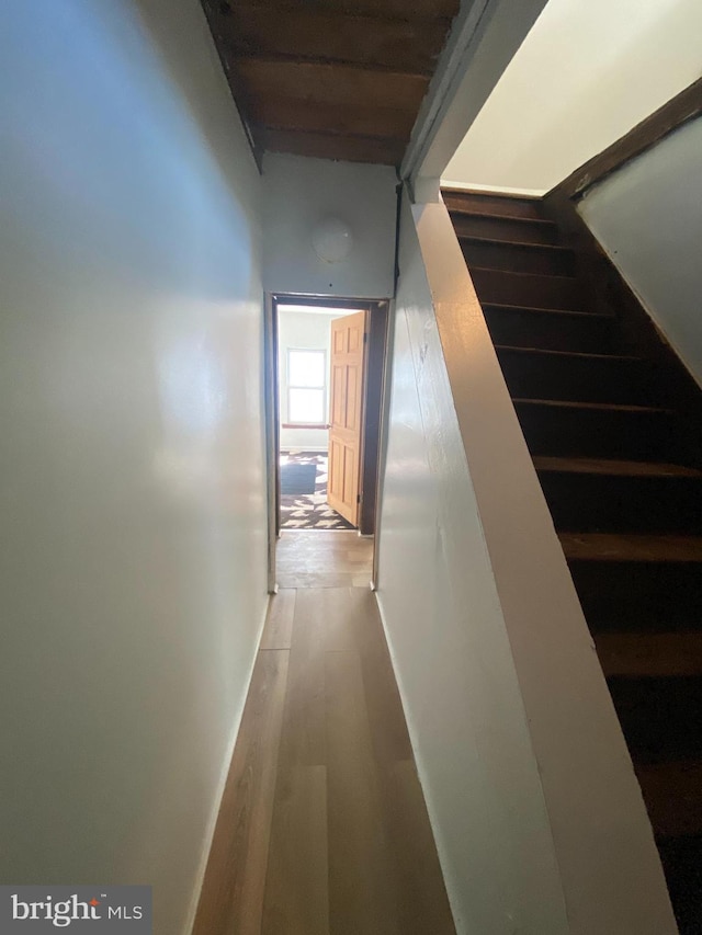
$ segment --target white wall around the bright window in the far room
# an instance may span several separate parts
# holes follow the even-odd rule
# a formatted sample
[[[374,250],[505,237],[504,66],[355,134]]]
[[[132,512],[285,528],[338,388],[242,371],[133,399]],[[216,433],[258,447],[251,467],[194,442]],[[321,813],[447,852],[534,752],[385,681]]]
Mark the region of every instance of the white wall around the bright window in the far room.
[[[335,318],[348,315],[347,311],[320,312],[283,311],[278,313],[278,356],[279,384],[281,392],[281,423],[288,422],[287,413],[287,352],[324,351],[327,367],[331,351],[331,322]],[[327,417],[329,414],[329,379],[327,378]],[[301,448],[305,452],[326,452],[329,445],[327,429],[283,429],[281,427],[281,448]]]

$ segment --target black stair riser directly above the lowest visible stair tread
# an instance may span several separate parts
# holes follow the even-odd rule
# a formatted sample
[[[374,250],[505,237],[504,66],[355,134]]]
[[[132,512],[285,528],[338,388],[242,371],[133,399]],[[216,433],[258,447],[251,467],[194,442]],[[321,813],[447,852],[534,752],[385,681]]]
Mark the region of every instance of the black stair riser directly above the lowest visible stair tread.
[[[635,762],[702,756],[702,676],[616,676],[608,685]]]

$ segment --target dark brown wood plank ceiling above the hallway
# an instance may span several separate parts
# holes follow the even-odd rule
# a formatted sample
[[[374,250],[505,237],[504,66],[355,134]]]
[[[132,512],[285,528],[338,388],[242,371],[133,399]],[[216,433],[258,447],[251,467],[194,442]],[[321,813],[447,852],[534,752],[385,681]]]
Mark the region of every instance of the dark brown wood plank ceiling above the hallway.
[[[258,153],[398,164],[460,0],[202,0]]]

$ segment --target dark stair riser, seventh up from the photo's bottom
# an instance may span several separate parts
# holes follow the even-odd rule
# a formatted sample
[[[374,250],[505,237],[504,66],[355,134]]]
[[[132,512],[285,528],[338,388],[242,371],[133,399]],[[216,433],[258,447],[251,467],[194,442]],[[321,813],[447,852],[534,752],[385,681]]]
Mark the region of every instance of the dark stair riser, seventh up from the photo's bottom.
[[[483,311],[496,344],[599,354],[618,350],[613,322],[596,316],[570,318],[489,305]]]

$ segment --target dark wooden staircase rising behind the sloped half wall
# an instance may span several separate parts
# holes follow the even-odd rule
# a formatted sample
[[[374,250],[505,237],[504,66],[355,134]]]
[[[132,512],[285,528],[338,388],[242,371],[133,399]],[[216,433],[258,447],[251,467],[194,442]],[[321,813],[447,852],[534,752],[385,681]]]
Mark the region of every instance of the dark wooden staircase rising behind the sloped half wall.
[[[702,447],[539,201],[444,192],[680,932],[702,933]]]

